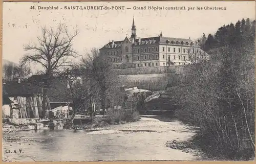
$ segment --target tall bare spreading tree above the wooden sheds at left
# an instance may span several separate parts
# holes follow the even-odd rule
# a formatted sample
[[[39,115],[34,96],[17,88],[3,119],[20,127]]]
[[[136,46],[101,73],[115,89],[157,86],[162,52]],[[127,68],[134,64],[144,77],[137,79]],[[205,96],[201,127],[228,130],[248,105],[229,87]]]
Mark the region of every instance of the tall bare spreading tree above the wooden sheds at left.
[[[52,27],[47,29],[44,26],[41,28],[41,36],[37,37],[38,44],[32,43],[24,46],[25,51],[30,53],[24,55],[20,63],[22,65],[33,63],[42,66],[42,74],[47,76],[44,85],[45,96],[50,88],[52,77],[71,63],[70,57],[78,55],[73,49],[73,40],[78,34],[78,30],[75,30],[73,34],[69,33],[67,26],[63,24],[58,25],[56,30]],[[44,116],[46,114],[44,112]]]

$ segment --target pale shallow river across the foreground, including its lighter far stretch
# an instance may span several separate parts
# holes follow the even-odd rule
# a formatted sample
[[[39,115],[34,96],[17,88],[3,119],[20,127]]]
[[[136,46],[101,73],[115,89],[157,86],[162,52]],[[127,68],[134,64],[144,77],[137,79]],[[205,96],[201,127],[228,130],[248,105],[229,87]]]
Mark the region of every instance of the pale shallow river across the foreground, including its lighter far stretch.
[[[199,157],[192,152],[165,146],[169,140],[183,141],[194,134],[190,127],[177,120],[141,118],[138,122],[91,132],[42,130],[4,134],[34,141],[4,140],[3,152],[12,161],[197,160]]]

